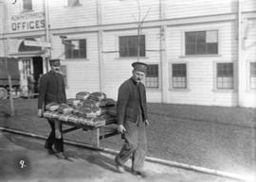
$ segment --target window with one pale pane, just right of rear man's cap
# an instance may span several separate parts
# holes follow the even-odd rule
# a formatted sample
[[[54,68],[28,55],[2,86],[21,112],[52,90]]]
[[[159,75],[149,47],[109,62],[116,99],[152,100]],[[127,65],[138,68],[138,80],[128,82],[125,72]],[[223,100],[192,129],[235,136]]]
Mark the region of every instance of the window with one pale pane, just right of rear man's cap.
[[[86,40],[64,41],[65,58],[86,58]]]

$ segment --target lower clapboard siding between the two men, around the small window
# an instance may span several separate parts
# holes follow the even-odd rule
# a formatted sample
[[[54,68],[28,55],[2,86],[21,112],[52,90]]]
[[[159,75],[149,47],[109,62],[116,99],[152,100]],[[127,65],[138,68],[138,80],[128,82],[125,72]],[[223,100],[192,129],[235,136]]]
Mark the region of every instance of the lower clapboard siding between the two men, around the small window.
[[[79,91],[100,91],[98,34],[72,34],[68,39],[86,39],[87,58],[65,59],[64,45],[58,36],[52,38],[52,58],[62,58],[67,72],[67,97],[72,98]],[[62,57],[60,57],[62,56]]]

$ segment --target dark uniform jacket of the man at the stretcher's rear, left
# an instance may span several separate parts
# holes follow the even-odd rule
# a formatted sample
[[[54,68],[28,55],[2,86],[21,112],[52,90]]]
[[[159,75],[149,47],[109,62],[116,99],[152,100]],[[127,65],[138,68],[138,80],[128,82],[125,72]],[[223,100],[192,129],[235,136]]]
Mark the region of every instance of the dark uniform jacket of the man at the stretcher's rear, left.
[[[64,103],[66,101],[64,77],[52,71],[44,74],[40,81],[38,108],[44,108],[51,102]]]

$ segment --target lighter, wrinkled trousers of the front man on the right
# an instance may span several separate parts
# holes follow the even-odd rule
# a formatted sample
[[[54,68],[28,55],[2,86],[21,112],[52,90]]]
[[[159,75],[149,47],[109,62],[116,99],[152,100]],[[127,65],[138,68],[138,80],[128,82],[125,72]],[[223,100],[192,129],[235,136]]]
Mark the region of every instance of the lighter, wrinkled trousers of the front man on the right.
[[[124,122],[124,127],[126,129],[126,132],[122,134],[124,144],[115,161],[123,166],[132,157],[132,170],[142,171],[147,153],[146,125],[139,117],[137,123]]]

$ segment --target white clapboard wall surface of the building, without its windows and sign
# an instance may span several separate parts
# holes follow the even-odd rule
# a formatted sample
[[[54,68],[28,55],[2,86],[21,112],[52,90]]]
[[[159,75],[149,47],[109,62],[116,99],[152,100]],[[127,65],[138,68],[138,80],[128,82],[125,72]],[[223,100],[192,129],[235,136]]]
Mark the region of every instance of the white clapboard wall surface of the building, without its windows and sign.
[[[164,3],[163,8],[160,7],[159,2]],[[9,17],[7,27],[10,27],[10,18],[13,15],[22,16],[45,10],[44,0],[33,0],[32,12],[23,11],[22,1],[17,1],[15,5],[12,5],[11,1],[5,0],[5,5]],[[1,6],[3,5],[0,3],[0,8]],[[145,17],[142,34],[146,36],[147,50],[146,57],[140,58],[140,61],[149,64],[157,63],[159,66],[160,87],[155,90],[147,89],[148,101],[161,102],[166,97],[164,102],[172,104],[237,106],[237,0],[140,0],[140,6],[141,19]],[[256,3],[254,0],[244,0],[242,1],[242,9],[249,14],[249,11],[256,10]],[[162,10],[165,10],[165,13]],[[218,15],[219,20],[214,20],[215,15]],[[226,19],[227,15],[232,15],[229,16],[229,20]],[[102,91],[105,91],[109,97],[117,99],[119,85],[132,75],[131,63],[137,61],[137,58],[119,58],[119,36],[137,35],[137,29],[134,28],[133,24],[130,24],[136,22],[137,16],[137,0],[81,0],[81,5],[75,7],[66,6],[65,0],[49,1],[51,58],[63,59],[62,63],[66,66],[67,71],[66,91],[68,97],[74,97],[78,91],[92,92],[100,91],[102,88]],[[165,22],[158,21],[160,17],[171,20],[166,22],[166,38],[164,32],[160,31],[159,23],[165,25]],[[203,22],[200,22],[202,18],[199,17],[204,18]],[[194,19],[194,23],[191,23],[189,20],[192,18],[198,19]],[[182,24],[183,20],[184,23]],[[196,22],[197,20],[198,22]],[[186,21],[188,23],[185,23]],[[107,29],[104,29],[105,27]],[[78,33],[77,29],[82,33]],[[98,35],[100,29],[102,29],[102,40],[99,40]],[[218,30],[219,54],[207,57],[186,57],[184,33],[186,31],[212,29]],[[247,39],[244,41],[245,47],[242,51],[242,58],[244,58],[245,63],[239,68],[243,70],[245,77],[242,83],[244,84],[242,105],[256,107],[256,102],[254,102],[254,100],[256,101],[256,93],[254,90],[250,90],[248,86],[249,62],[256,61],[255,17],[254,19],[247,19],[245,16],[242,29],[243,35],[247,34]],[[39,30],[44,30],[44,28]],[[11,36],[20,36],[19,39],[10,39],[10,52],[17,53],[19,43],[28,34],[18,34],[22,31],[15,34],[16,32],[11,31],[10,28],[7,31],[11,33]],[[27,31],[34,32],[37,30],[30,29]],[[64,44],[60,35],[67,36],[67,39],[85,38],[87,41],[87,58],[65,59]],[[101,41],[103,44],[102,52],[99,51],[99,42]],[[160,46],[161,41],[166,41],[166,49],[160,51],[163,48]],[[1,47],[3,47],[3,40],[0,40]],[[4,55],[3,50],[0,49],[0,56]],[[162,57],[164,54],[166,54],[166,61]],[[102,80],[100,80],[100,58]],[[188,66],[189,88],[187,90],[174,90],[171,87],[171,65],[178,62],[187,63]],[[234,63],[234,90],[216,90],[217,62]],[[163,72],[166,68],[168,69],[167,73]],[[164,74],[162,75],[162,73]],[[167,79],[163,79],[166,77]],[[164,80],[163,83],[162,80]],[[167,86],[166,95],[163,95],[165,94],[162,91],[165,88],[163,86]]]

